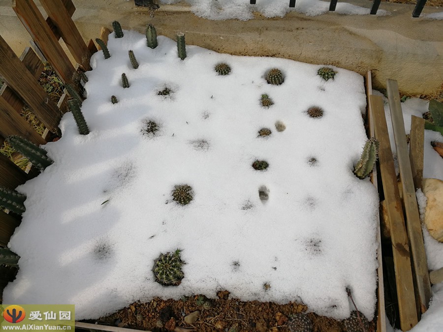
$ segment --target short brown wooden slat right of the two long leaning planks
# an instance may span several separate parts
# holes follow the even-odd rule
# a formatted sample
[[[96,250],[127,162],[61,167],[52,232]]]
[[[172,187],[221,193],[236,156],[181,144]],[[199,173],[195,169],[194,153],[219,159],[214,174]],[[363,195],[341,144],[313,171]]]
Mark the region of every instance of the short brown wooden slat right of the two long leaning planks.
[[[424,155],[424,119],[412,116],[409,142],[409,161],[415,189],[422,188]]]

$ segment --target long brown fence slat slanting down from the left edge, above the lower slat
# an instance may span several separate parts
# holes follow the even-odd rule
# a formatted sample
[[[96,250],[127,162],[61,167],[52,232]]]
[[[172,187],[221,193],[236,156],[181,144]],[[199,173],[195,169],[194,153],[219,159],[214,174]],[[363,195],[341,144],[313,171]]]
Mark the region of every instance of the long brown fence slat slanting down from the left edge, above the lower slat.
[[[61,115],[57,105],[0,36],[0,74],[31,107],[32,113],[52,132],[59,132]]]

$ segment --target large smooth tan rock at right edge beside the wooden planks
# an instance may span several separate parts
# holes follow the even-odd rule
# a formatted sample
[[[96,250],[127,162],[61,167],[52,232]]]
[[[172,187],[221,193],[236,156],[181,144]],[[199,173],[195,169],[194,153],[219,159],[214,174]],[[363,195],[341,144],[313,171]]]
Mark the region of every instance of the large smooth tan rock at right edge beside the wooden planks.
[[[423,179],[423,194],[428,199],[424,224],[434,239],[443,242],[443,181]]]

